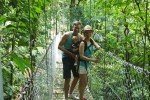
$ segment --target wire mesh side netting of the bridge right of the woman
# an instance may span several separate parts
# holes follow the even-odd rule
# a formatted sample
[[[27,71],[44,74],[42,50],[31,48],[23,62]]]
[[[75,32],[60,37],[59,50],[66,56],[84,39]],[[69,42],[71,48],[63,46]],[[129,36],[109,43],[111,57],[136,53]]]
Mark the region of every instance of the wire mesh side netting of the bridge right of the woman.
[[[92,65],[89,87],[94,100],[149,100],[149,71],[111,52],[101,53],[100,63]]]

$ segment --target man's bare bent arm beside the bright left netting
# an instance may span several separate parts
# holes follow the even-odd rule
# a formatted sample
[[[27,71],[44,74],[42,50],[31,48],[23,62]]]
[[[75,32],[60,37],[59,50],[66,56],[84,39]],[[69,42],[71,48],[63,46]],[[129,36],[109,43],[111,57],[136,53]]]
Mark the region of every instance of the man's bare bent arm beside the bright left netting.
[[[73,53],[69,52],[67,49],[64,48],[64,44],[65,44],[65,42],[66,42],[68,36],[69,36],[69,33],[65,33],[65,34],[62,36],[62,38],[61,38],[61,40],[60,40],[60,42],[59,42],[59,44],[58,44],[58,49],[61,50],[61,51],[63,51],[63,52],[64,52],[65,54],[67,54],[68,56],[70,56],[70,57],[72,57],[72,58],[75,58],[75,55],[74,55]]]

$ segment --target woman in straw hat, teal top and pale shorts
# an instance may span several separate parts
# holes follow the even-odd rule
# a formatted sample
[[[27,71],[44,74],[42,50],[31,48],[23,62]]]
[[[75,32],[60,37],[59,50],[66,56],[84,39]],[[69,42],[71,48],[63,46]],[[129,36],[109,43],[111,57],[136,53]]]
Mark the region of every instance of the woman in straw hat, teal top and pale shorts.
[[[90,62],[98,62],[98,59],[92,58],[94,49],[99,49],[99,45],[91,38],[93,29],[91,26],[86,25],[83,29],[84,40],[79,46],[79,98],[80,100],[86,100],[84,98],[84,91],[87,86],[87,70],[90,66]]]

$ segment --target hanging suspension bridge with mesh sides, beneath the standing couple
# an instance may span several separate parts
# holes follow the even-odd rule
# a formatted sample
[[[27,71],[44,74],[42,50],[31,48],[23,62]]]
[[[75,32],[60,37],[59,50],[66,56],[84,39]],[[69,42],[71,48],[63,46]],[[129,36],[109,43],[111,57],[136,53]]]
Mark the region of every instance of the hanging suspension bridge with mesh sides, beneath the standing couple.
[[[64,100],[61,51],[57,49],[60,38],[60,34],[56,35],[41,54],[43,59],[21,88],[18,100]],[[143,81],[149,82],[148,70],[121,60],[111,52],[100,56],[101,63],[92,64],[89,72],[85,93],[88,100],[149,99],[149,86],[143,84]],[[78,96],[77,87],[74,95]]]

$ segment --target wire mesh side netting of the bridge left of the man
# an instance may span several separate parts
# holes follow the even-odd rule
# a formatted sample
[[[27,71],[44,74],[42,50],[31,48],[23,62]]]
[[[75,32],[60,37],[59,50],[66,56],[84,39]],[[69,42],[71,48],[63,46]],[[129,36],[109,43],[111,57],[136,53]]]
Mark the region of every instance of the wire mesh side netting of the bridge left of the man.
[[[18,100],[52,100],[56,62],[60,60],[57,50],[60,34],[56,35],[46,50],[42,50],[37,58],[37,67],[27,79],[20,91]],[[59,53],[59,54],[58,54]],[[42,60],[40,61],[39,59]]]

